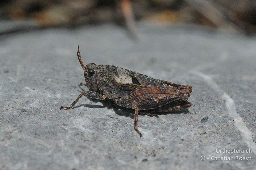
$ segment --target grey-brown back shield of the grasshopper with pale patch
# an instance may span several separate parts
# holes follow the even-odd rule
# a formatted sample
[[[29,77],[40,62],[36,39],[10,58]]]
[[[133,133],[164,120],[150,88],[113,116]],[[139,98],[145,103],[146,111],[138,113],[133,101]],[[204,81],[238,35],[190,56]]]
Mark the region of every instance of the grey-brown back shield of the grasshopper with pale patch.
[[[163,81],[112,65],[98,65],[97,85],[109,99],[122,97],[123,91],[132,91],[140,87],[176,89]]]

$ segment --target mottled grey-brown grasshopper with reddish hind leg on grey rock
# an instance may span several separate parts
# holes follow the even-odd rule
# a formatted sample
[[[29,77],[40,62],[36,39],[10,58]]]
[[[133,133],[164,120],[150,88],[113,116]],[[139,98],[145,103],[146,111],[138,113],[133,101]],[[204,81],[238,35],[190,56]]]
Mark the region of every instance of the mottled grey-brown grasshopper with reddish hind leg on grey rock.
[[[134,129],[138,130],[138,115],[145,114],[157,117],[149,112],[173,112],[191,106],[187,102],[192,87],[175,84],[169,81],[154,79],[147,75],[112,65],[84,66],[79,46],[77,57],[84,70],[85,86],[89,91],[81,93],[70,106],[61,106],[60,109],[71,109],[82,97],[104,100],[112,99],[115,104],[135,110]]]

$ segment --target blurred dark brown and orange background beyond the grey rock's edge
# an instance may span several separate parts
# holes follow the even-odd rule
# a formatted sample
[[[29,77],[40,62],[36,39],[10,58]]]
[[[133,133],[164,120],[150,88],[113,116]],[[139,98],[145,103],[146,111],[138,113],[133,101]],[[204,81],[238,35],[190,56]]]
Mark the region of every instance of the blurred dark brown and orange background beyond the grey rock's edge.
[[[1,0],[0,19],[26,22],[25,25],[5,29],[6,32],[116,23],[136,36],[134,23],[147,20],[159,25],[193,23],[252,35],[256,32],[256,1]]]

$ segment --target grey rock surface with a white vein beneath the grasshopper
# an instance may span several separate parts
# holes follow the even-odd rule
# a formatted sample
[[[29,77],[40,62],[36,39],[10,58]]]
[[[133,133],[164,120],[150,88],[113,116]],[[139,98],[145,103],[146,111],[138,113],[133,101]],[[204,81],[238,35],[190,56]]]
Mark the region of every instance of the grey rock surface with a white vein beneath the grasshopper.
[[[0,169],[254,169],[256,38],[147,23],[138,35],[134,42],[114,25],[2,35]],[[139,115],[142,138],[134,111],[111,101],[83,97],[60,110],[86,90],[78,86],[77,44],[84,63],[193,86],[192,107],[159,119]]]

